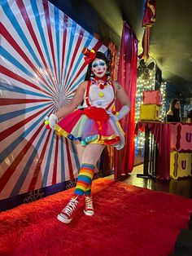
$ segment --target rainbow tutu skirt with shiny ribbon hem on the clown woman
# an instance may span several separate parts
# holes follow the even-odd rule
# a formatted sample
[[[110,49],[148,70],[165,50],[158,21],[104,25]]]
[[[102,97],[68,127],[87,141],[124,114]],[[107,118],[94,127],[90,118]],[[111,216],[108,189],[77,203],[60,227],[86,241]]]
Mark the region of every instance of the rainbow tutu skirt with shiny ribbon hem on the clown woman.
[[[124,147],[124,131],[120,122],[110,117],[103,108],[88,107],[77,109],[63,117],[55,125],[58,135],[72,141],[79,140],[82,146],[88,143]]]

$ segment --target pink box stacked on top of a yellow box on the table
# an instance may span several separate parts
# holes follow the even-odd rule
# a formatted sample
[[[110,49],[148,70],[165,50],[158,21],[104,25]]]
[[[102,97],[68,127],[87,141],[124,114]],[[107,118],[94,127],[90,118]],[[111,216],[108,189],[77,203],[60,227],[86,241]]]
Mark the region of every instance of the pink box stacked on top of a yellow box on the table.
[[[143,104],[161,105],[161,94],[159,90],[144,90],[142,96]]]

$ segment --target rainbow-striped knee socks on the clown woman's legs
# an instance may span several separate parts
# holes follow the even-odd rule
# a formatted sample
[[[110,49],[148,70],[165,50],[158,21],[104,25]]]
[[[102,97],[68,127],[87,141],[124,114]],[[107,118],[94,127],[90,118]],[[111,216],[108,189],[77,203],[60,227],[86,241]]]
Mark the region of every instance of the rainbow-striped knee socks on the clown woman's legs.
[[[92,179],[94,177],[94,165],[91,164],[82,164],[81,170],[76,183],[75,195],[83,196],[86,193],[86,196],[89,195],[91,189]]]

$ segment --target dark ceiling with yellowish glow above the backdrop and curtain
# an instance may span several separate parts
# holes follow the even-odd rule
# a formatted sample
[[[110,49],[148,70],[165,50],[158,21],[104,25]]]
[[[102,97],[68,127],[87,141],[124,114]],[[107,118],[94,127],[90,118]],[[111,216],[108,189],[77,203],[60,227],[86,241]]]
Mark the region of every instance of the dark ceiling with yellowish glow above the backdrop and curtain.
[[[50,1],[90,33],[120,46],[123,20],[133,28],[142,51],[145,0]],[[156,0],[156,22],[151,28],[150,55],[168,82],[169,96],[192,101],[192,1]]]

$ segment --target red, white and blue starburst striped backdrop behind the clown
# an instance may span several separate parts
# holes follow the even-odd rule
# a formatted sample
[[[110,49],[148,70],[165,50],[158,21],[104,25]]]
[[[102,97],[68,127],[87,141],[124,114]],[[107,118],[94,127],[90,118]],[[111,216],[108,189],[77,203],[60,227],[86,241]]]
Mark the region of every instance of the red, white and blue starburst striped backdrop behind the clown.
[[[46,0],[2,0],[0,199],[77,176],[75,147],[46,130],[85,78],[81,51],[107,51]]]

